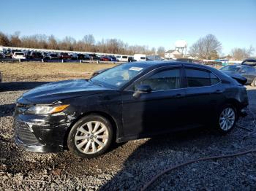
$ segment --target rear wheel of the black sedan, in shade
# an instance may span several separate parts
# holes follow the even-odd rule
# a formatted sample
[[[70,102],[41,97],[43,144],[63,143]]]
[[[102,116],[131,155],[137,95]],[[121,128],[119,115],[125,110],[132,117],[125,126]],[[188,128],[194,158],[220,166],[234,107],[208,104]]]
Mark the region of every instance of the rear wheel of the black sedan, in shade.
[[[222,106],[218,113],[217,130],[222,134],[228,133],[235,127],[237,119],[236,107],[231,104]]]

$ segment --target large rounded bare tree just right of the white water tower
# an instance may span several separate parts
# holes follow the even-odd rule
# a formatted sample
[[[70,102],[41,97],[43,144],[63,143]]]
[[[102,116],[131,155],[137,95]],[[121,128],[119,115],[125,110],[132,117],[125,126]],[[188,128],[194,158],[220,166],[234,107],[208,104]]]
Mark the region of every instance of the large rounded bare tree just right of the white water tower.
[[[222,43],[216,36],[208,34],[200,38],[189,48],[189,54],[202,59],[216,59],[222,50]]]

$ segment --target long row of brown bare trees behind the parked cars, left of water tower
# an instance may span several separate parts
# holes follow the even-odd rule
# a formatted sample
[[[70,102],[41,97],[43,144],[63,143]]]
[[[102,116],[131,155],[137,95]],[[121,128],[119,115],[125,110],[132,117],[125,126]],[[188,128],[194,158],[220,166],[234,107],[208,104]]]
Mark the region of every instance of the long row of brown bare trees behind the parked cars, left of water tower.
[[[129,45],[120,39],[102,39],[96,42],[92,34],[83,36],[83,39],[76,40],[70,36],[64,39],[56,39],[55,36],[35,34],[31,36],[20,36],[19,32],[4,34],[0,32],[0,45],[6,47],[27,47],[52,50],[69,50],[83,52],[105,52],[113,54],[134,55],[135,53],[147,55],[164,55],[165,47],[152,47]]]

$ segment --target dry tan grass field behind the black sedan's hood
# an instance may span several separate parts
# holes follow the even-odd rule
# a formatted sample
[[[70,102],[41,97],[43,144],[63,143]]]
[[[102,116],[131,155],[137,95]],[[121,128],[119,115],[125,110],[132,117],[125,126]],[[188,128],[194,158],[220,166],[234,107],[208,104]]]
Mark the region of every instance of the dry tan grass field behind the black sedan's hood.
[[[93,71],[115,65],[106,63],[0,63],[4,82],[57,81],[61,79],[88,78]]]

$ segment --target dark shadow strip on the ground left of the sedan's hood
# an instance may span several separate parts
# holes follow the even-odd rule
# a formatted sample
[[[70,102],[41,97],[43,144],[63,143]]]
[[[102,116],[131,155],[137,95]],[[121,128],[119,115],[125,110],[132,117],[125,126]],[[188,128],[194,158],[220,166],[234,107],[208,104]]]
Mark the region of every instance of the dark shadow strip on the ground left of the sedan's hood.
[[[29,90],[49,82],[1,82],[0,92]]]

